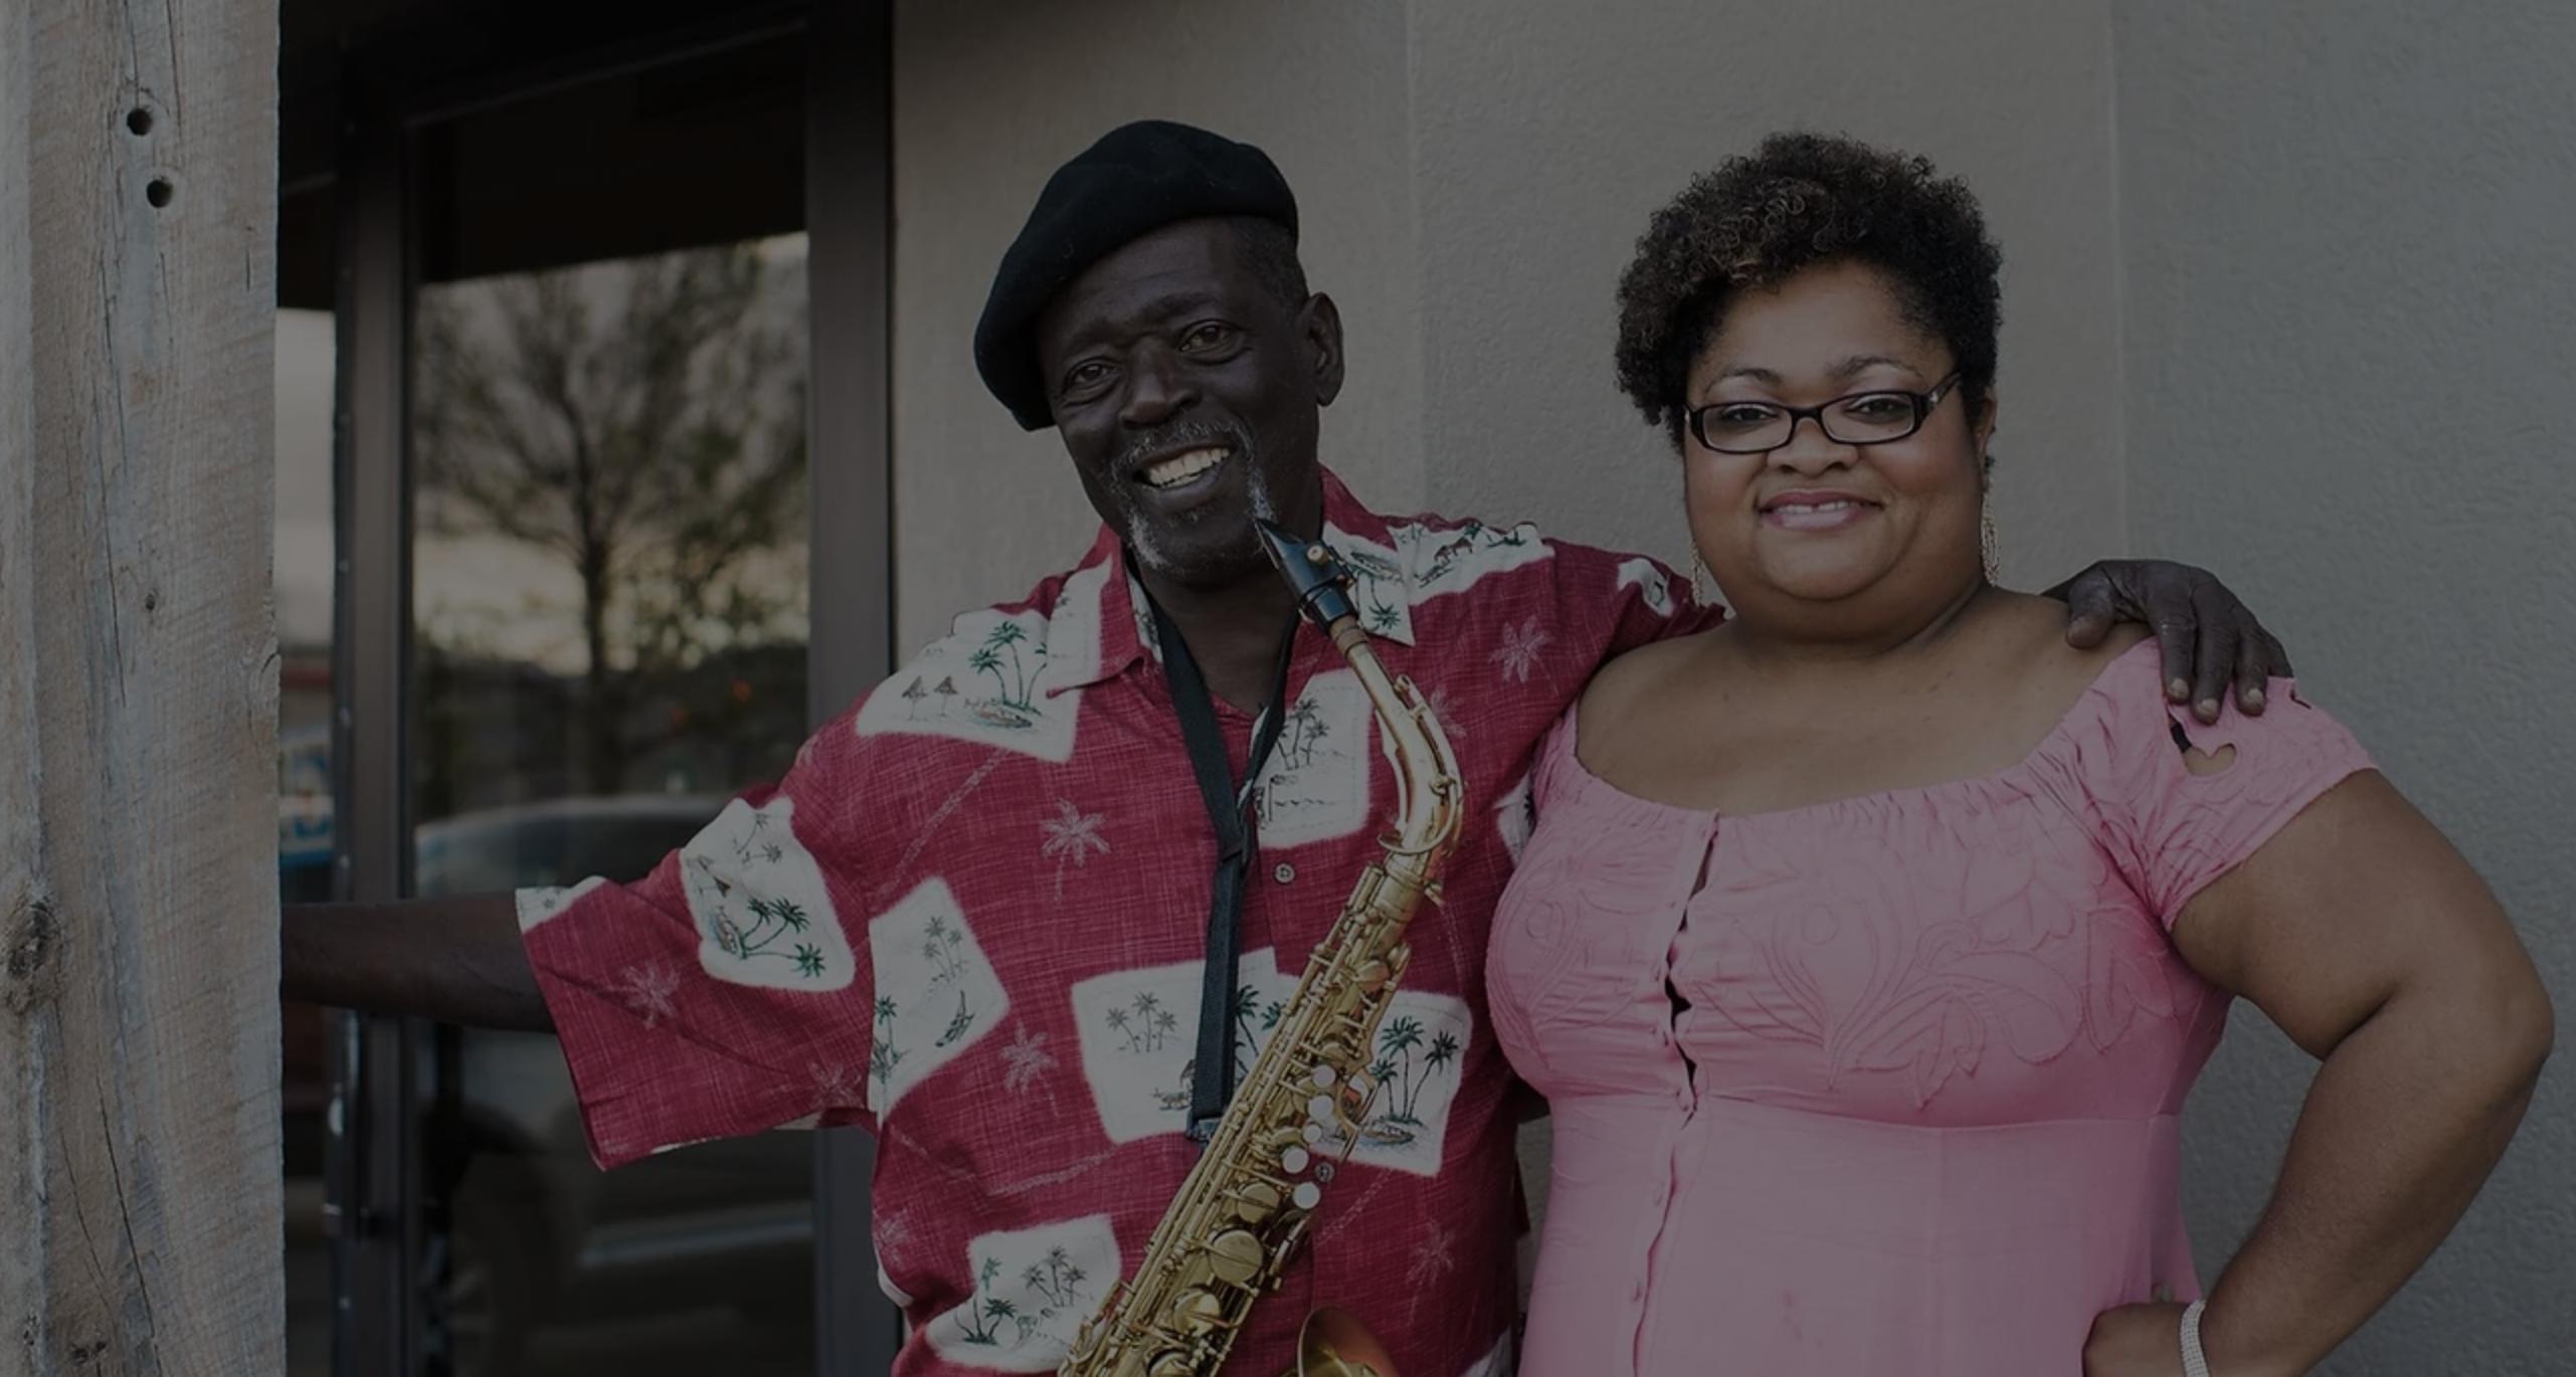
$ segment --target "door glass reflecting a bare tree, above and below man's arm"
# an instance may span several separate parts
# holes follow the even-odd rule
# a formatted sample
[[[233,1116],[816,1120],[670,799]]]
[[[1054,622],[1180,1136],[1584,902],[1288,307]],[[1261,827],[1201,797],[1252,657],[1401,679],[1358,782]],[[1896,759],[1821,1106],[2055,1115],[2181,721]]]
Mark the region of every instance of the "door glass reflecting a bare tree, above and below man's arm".
[[[422,286],[415,888],[639,878],[804,739],[804,237]],[[806,1372],[811,1148],[590,1166],[551,1037],[451,1030],[433,1354]]]

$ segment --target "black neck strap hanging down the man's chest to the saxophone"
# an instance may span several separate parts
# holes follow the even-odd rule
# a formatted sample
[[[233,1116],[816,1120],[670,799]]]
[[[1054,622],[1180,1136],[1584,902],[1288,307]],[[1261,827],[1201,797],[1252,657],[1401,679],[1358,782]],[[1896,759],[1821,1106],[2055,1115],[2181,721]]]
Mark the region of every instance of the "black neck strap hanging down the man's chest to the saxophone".
[[[1216,1120],[1234,1096],[1234,988],[1236,934],[1244,911],[1244,878],[1252,870],[1252,790],[1262,777],[1262,764],[1280,739],[1288,718],[1288,661],[1296,651],[1296,618],[1280,633],[1278,672],[1270,682],[1270,703],[1252,728],[1252,757],[1244,762],[1244,782],[1234,782],[1226,762],[1226,736],[1216,728],[1216,700],[1208,679],[1190,659],[1190,646],[1180,628],[1151,597],[1154,638],[1162,643],[1162,677],[1172,687],[1172,708],[1180,713],[1180,739],[1190,746],[1190,772],[1198,775],[1198,800],[1208,808],[1208,826],[1216,831],[1216,885],[1208,896],[1208,965],[1198,991],[1198,1060],[1190,1076],[1190,1138],[1200,1145],[1216,1135]]]

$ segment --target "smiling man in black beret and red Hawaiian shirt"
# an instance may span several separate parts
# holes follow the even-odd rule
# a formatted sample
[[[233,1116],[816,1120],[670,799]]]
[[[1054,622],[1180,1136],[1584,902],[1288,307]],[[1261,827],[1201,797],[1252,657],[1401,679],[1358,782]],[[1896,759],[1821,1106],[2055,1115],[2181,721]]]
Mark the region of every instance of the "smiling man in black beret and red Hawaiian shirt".
[[[1520,1199],[1484,950],[1530,752],[1602,659],[1703,613],[1649,559],[1388,520],[1321,468],[1342,324],[1244,144],[1136,124],[1061,167],[976,365],[1059,430],[1100,512],[1072,571],[958,618],[641,883],[289,914],[289,993],[556,1027],[603,1166],[868,1125],[884,1284],[912,1320],[896,1369],[1051,1369],[1195,1161],[1226,1055],[1260,1053],[1378,855],[1373,721],[1293,625],[1252,528],[1275,517],[1358,571],[1381,654],[1448,723],[1468,826],[1412,932],[1370,1122],[1234,1369],[1285,1367],[1324,1302],[1404,1372],[1504,1369]],[[2215,582],[2097,566],[2071,636],[2151,615],[2190,677],[2195,600],[2215,708],[2239,646],[2241,687],[2275,654]]]

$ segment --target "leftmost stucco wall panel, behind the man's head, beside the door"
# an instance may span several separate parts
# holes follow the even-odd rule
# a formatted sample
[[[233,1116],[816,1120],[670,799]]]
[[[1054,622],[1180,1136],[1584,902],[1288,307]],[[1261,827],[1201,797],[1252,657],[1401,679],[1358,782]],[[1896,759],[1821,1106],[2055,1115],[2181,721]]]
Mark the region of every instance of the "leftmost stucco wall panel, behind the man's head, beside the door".
[[[1097,530],[1054,430],[974,373],[994,263],[1046,175],[1131,118],[1249,139],[1298,193],[1309,283],[1342,306],[1350,381],[1324,456],[1422,502],[1422,360],[1404,10],[1370,0],[907,0],[894,15],[896,643],[1015,597]]]

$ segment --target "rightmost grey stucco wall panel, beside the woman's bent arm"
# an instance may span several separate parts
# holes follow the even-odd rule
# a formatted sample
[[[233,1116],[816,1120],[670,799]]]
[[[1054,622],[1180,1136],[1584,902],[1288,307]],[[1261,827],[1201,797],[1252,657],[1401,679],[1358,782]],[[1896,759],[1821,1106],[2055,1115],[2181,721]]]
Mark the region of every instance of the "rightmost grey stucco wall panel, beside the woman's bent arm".
[[[2221,569],[2476,862],[2576,1022],[2576,8],[2115,10],[2130,543]],[[2470,18],[2473,15],[2473,18]],[[2331,1372],[2576,1372],[2576,1058]],[[2311,1063],[2259,1014],[2184,1120],[2202,1266]]]

